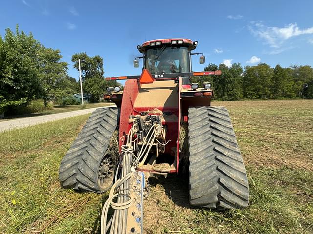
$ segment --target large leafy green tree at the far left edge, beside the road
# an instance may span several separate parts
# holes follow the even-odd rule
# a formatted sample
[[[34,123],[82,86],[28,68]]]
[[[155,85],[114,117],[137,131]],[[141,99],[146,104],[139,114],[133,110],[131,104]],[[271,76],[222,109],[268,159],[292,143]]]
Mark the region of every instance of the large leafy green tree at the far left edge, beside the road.
[[[31,33],[20,33],[18,26],[15,34],[5,31],[4,39],[0,37],[0,96],[1,104],[6,103],[2,111],[25,105],[44,92],[36,69],[40,43]]]

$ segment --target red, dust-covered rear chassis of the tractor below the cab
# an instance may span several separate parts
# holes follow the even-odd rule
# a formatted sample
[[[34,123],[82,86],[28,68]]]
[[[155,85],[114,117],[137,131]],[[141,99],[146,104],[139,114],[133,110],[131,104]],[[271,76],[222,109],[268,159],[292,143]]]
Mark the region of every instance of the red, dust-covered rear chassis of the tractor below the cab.
[[[181,77],[220,75],[221,71],[191,72],[151,75],[144,69],[141,76],[112,77],[106,80],[127,79],[123,92],[105,94],[104,99],[112,100],[120,108],[119,146],[125,144],[127,133],[132,127],[130,116],[160,115],[162,125],[166,126],[164,154],[172,158],[169,173],[179,170],[179,130],[180,124],[188,121],[188,108],[209,106],[213,90],[204,88],[191,89],[182,85]],[[141,171],[153,170],[138,168]]]

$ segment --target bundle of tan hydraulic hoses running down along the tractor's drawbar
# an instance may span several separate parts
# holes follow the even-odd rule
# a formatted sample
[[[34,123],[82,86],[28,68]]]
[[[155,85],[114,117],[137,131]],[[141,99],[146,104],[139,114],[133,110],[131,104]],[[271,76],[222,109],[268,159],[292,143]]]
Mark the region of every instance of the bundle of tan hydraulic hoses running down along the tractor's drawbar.
[[[129,195],[129,186],[130,178],[134,174],[132,172],[133,169],[131,168],[137,168],[138,166],[143,165],[155,141],[160,145],[166,145],[169,143],[169,141],[161,143],[156,139],[162,130],[160,124],[154,122],[144,137],[139,150],[137,137],[138,130],[136,130],[136,127],[133,119],[133,125],[128,131],[128,134],[123,136],[126,139],[126,144],[121,146],[121,156],[114,175],[115,183],[112,185],[109,197],[104,203],[101,212],[101,234],[107,234],[109,230],[110,234],[126,233],[128,208],[132,205],[132,200]],[[135,152],[137,152],[137,155]],[[110,206],[114,210],[114,213],[107,222]]]

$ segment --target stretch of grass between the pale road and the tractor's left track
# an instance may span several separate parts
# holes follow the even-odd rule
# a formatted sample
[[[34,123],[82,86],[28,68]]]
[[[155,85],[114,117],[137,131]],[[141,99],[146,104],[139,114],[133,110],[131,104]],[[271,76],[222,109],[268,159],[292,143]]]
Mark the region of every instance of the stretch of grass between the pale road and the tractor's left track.
[[[0,134],[0,233],[82,233],[101,197],[60,188],[58,168],[89,115]]]

